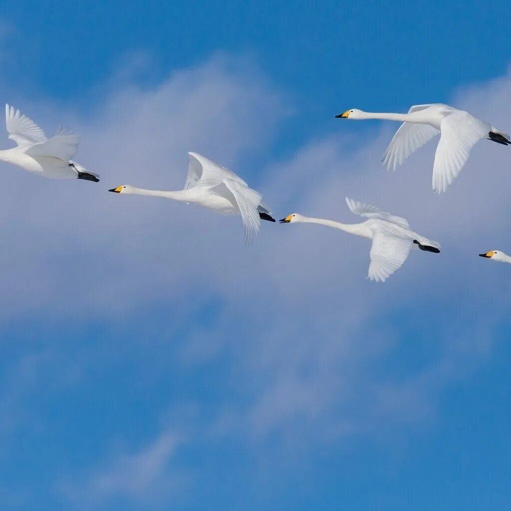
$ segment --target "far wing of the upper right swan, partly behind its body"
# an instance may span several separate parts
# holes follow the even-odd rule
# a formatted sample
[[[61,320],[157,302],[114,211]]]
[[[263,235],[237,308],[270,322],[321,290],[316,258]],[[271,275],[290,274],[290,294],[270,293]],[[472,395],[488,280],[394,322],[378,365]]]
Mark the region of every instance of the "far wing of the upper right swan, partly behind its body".
[[[424,110],[429,105],[414,105],[408,113]],[[392,137],[382,158],[382,165],[388,170],[396,170],[410,154],[431,140],[439,130],[428,124],[403,123]]]

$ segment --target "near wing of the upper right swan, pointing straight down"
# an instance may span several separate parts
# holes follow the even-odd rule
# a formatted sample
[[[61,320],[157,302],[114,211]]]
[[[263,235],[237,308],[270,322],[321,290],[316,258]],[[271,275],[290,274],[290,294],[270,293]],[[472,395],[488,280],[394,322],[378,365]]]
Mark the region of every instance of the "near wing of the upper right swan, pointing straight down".
[[[487,136],[489,124],[468,112],[454,110],[440,121],[440,140],[433,166],[433,190],[442,193],[465,165],[470,150]]]

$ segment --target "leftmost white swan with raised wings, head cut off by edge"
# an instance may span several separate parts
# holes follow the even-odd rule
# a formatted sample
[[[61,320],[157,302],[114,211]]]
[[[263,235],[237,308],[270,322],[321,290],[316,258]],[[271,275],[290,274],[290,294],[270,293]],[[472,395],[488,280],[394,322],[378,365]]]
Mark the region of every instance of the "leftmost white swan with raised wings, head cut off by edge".
[[[54,136],[47,138],[32,119],[9,105],[5,105],[5,120],[9,138],[17,147],[0,150],[0,161],[51,179],[99,181],[98,174],[71,159],[80,142],[76,133],[59,128]]]

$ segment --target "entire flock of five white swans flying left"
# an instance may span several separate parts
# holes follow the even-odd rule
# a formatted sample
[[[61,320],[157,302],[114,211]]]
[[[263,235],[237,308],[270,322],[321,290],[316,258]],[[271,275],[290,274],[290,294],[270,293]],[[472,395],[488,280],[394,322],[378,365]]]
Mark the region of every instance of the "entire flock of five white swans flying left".
[[[487,138],[498,144],[511,144],[507,133],[466,111],[440,103],[415,105],[408,113],[371,113],[354,108],[336,115],[336,118],[402,122],[382,159],[383,165],[392,170],[433,136],[440,134],[433,164],[433,190],[436,193],[447,190],[467,162],[470,150],[479,140]],[[9,138],[16,143],[16,147],[0,151],[0,161],[51,179],[99,181],[98,174],[90,172],[72,159],[80,141],[76,133],[59,128],[53,137],[47,138],[31,119],[9,105],[6,105],[6,127]],[[261,194],[251,189],[238,175],[205,156],[193,152],[188,155],[190,162],[183,190],[146,190],[123,184],[109,192],[164,197],[198,204],[224,215],[239,215],[245,228],[247,244],[251,243],[258,233],[261,220],[275,222],[268,206],[261,202]],[[346,198],[346,202],[352,213],[366,220],[358,224],[344,224],[292,213],[280,220],[280,223],[315,223],[368,238],[371,240],[368,278],[377,282],[384,282],[400,268],[412,248],[440,252],[438,242],[415,233],[406,219],[349,198]],[[511,263],[509,255],[497,250],[479,255],[494,261]]]

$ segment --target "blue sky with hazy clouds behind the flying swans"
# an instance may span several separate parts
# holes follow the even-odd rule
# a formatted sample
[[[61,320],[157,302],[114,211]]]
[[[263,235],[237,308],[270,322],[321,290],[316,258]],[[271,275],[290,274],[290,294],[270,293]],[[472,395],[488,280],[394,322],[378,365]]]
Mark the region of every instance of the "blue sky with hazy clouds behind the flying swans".
[[[333,117],[446,102],[509,132],[509,14],[339,4],[3,6],[2,97],[80,132],[102,180],[2,165],[2,508],[506,506],[511,292],[477,253],[511,250],[509,155],[481,143],[435,196],[431,147],[386,173],[396,126]],[[179,188],[188,151],[278,218],[355,221],[353,195],[444,251],[376,285],[363,241],[246,248],[234,219],[106,193]]]

